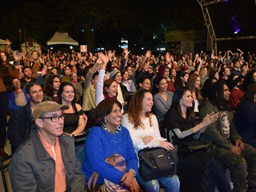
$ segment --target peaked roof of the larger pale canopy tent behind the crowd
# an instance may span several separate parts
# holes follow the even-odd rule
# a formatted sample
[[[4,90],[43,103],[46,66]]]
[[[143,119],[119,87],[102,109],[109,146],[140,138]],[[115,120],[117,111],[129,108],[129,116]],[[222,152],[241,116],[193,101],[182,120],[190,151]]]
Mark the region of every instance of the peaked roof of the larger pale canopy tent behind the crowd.
[[[70,38],[69,34],[56,32],[54,36],[47,42],[47,46],[59,44],[78,46],[78,42],[74,41],[73,38]]]

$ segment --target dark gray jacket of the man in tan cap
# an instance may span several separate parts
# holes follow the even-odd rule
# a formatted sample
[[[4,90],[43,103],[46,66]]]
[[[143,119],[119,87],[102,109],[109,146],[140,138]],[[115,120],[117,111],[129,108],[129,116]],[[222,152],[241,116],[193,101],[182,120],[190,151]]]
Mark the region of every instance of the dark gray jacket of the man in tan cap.
[[[59,143],[66,169],[66,191],[84,191],[85,178],[74,139],[63,134]],[[42,146],[37,130],[15,151],[9,171],[13,191],[54,191],[55,162]]]

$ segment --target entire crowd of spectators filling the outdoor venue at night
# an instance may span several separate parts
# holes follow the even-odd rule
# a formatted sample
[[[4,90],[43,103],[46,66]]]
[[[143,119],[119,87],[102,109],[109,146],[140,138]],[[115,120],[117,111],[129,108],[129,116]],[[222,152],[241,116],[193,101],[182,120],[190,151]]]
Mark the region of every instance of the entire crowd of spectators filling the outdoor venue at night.
[[[0,155],[10,155],[8,138],[14,190],[84,191],[97,172],[97,188],[256,191],[254,53],[25,55],[10,45],[6,39],[0,52]],[[71,139],[79,135],[86,137],[80,161]],[[211,146],[186,155],[178,148],[171,178],[146,181],[138,173],[138,150],[196,140]],[[122,155],[125,170],[106,162],[113,154]]]

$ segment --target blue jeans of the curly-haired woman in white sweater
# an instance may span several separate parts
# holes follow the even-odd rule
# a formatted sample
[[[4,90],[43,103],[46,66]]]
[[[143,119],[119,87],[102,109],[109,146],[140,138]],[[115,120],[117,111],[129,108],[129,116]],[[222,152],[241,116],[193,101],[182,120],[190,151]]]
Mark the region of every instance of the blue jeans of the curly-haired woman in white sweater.
[[[159,192],[160,185],[159,182],[166,188],[166,192],[178,192],[179,191],[179,179],[175,174],[171,178],[158,178],[150,181],[145,181],[140,175],[136,177],[138,184],[142,186],[143,190],[146,192]]]

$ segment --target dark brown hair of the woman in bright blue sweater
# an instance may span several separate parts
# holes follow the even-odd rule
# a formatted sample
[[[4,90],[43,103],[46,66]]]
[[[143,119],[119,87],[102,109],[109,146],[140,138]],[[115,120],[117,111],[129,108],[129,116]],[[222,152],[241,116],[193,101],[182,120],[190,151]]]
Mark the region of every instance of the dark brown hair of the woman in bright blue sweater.
[[[94,110],[93,120],[95,126],[102,126],[105,123],[105,117],[112,112],[114,103],[122,109],[122,104],[114,98],[105,98],[102,102],[98,103],[98,106]]]

